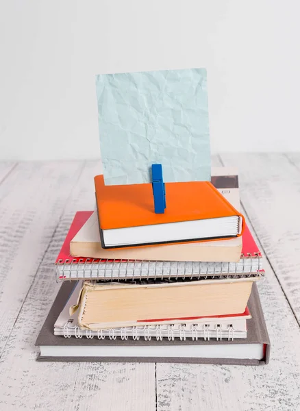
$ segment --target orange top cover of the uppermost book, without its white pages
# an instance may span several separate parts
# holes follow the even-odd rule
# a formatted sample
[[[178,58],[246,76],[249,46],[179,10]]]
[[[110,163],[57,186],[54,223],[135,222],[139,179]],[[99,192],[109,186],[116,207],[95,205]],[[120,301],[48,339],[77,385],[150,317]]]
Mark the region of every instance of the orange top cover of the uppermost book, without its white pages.
[[[166,210],[155,214],[152,184],[105,186],[103,175],[95,177],[101,229],[138,227],[240,216],[210,182],[165,183]],[[238,234],[240,236],[241,232]]]

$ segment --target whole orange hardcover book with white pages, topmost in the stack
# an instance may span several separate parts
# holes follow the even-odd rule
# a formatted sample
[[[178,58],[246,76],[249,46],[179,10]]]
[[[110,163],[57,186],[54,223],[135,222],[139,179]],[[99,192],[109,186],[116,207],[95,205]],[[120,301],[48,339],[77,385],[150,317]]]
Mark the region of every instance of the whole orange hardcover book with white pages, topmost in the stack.
[[[166,210],[155,214],[152,184],[105,186],[95,177],[103,248],[233,238],[244,218],[210,182],[166,183]]]

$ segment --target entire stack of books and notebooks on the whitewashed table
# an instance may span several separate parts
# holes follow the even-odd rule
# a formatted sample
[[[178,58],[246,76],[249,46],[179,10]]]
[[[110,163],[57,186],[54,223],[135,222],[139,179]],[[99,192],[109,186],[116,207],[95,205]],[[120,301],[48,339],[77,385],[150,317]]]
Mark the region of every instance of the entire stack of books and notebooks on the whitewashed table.
[[[261,253],[242,215],[235,169],[211,183],[104,186],[77,212],[55,262],[62,282],[38,360],[265,364]],[[201,215],[195,203],[201,203]]]

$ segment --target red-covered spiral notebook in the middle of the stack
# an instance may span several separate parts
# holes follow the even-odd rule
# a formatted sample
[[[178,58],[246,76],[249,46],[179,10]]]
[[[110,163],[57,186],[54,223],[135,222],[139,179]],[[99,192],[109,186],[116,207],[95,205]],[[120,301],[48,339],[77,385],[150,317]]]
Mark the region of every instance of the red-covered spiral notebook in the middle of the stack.
[[[175,266],[175,271],[177,269],[175,275],[170,271],[170,262],[146,262],[144,260],[138,262],[136,260],[108,260],[72,257],[70,254],[70,242],[91,215],[92,211],[79,211],[75,214],[71,227],[64,240],[64,244],[62,245],[62,249],[55,261],[56,274],[60,280],[90,278],[110,279],[110,277],[112,277],[112,279],[131,279],[132,277],[140,277],[140,279],[144,279],[145,273],[142,273],[143,268],[145,269],[145,266],[147,266],[150,269],[153,264],[155,264],[155,270],[161,271],[162,275],[160,272],[155,272],[153,275],[147,275],[146,273],[147,278],[177,276],[197,277],[199,273],[196,268],[199,264],[201,264],[201,273],[204,272],[208,274],[208,277],[212,277],[212,275],[209,274],[213,274],[214,276],[222,275],[223,277],[225,275],[241,277],[264,273],[264,270],[262,269],[262,255],[247,225],[245,225],[245,230],[242,235],[242,254],[239,262],[178,262],[177,266]],[[92,264],[92,269],[90,264]],[[132,268],[133,264],[134,267]],[[190,265],[191,269],[189,269]],[[166,268],[166,266],[169,266],[169,268]],[[184,272],[184,275],[180,275],[181,272],[178,272],[178,269],[180,268]],[[193,271],[189,272],[191,270]]]

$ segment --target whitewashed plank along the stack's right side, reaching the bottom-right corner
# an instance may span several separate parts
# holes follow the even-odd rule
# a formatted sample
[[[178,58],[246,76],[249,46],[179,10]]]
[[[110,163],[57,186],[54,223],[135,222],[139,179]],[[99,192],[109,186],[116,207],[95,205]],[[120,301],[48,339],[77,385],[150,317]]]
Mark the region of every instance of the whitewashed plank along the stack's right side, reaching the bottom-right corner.
[[[265,269],[259,290],[271,339],[270,363],[157,364],[158,411],[300,409],[300,329],[268,262]]]

